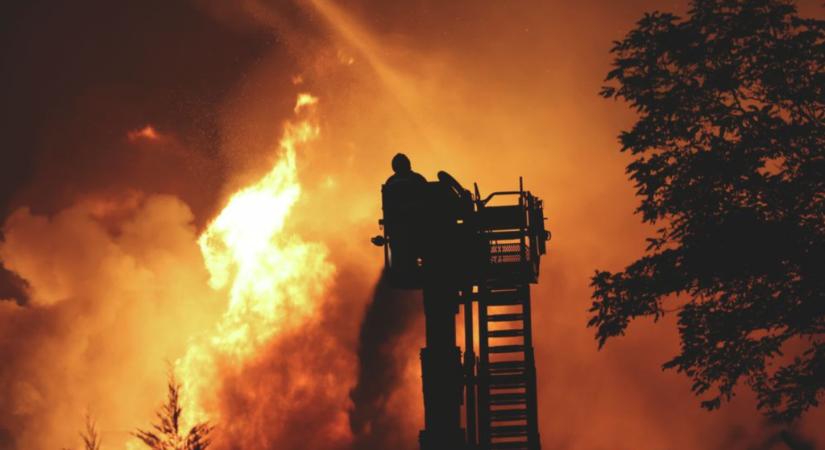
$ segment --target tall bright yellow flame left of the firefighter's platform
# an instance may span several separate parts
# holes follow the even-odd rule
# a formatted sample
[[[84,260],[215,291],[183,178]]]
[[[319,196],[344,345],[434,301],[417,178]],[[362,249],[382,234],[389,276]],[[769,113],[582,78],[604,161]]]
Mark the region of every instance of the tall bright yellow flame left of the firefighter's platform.
[[[190,424],[218,419],[208,404],[219,368],[243,367],[279,333],[310,321],[334,272],[323,244],[285,231],[301,196],[297,152],[320,131],[311,117],[316,104],[309,94],[298,96],[295,112],[304,119],[284,126],[277,163],[232,195],[198,240],[210,285],[228,300],[214,329],[176,362]]]

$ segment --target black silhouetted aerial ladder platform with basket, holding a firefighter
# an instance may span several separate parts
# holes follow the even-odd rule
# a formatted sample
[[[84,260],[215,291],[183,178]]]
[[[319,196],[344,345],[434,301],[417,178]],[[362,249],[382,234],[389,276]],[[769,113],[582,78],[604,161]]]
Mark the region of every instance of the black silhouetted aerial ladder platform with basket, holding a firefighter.
[[[421,449],[540,450],[530,285],[550,238],[542,200],[521,179],[482,197],[439,172],[384,184],[382,203],[372,241],[390,283],[424,293]]]

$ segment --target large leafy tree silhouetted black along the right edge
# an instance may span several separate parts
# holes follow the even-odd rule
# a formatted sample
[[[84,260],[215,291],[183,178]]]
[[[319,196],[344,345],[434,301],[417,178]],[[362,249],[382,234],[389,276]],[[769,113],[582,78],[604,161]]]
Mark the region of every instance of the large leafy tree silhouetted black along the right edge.
[[[601,94],[638,113],[620,141],[660,228],[639,260],[596,272],[589,326],[601,347],[678,311],[664,368],[708,409],[740,381],[780,419],[825,393],[824,25],[784,0],[694,0],[612,49]]]

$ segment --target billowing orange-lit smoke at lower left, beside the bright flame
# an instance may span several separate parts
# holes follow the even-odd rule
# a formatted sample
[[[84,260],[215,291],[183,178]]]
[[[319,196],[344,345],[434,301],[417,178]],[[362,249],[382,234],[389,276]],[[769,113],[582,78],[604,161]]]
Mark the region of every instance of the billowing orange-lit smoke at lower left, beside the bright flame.
[[[220,306],[180,200],[146,198],[116,234],[100,219],[83,203],[6,221],[0,258],[31,297],[0,302],[0,448],[71,445],[84,412],[122,443],[159,402],[147,393],[159,392],[164,360]]]

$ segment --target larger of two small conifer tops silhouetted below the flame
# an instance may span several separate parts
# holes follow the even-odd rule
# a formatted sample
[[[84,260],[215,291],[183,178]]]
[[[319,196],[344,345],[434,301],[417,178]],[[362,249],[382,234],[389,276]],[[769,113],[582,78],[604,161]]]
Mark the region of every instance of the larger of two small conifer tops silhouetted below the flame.
[[[209,447],[209,434],[213,427],[208,423],[193,426],[181,434],[180,384],[174,374],[169,375],[166,403],[157,412],[158,422],[152,430],[137,430],[135,436],[152,450],[205,450]]]

